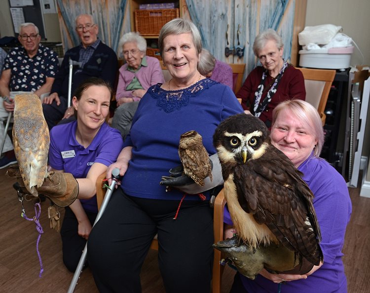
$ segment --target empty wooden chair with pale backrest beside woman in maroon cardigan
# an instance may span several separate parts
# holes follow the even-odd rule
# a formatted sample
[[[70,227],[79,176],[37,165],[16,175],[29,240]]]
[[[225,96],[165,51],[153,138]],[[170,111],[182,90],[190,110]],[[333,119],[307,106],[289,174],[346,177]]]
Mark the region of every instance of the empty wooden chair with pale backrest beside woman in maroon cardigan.
[[[304,86],[306,88],[306,102],[317,109],[324,126],[326,119],[324,111],[336,72],[335,70],[327,69],[297,69],[303,74]]]

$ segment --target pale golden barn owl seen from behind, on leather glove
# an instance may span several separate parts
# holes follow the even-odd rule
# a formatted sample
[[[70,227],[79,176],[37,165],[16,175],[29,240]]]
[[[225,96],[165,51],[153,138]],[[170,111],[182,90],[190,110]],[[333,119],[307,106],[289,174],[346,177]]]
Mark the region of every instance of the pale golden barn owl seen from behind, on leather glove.
[[[41,101],[33,93],[15,96],[13,144],[23,182],[33,196],[48,176],[49,129]]]

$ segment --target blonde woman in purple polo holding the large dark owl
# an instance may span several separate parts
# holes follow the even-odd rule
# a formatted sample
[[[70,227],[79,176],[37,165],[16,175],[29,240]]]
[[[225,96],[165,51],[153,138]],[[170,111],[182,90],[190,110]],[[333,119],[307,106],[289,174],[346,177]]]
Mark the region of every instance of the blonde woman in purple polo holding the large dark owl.
[[[255,280],[236,274],[231,293],[346,293],[342,262],[344,234],[351,215],[351,200],[343,177],[319,158],[324,131],[316,109],[302,100],[287,100],[272,114],[271,142],[303,173],[314,194],[313,206],[321,229],[324,262],[305,275],[270,274],[263,269]],[[224,221],[232,224],[226,211]],[[226,237],[232,236],[230,229]]]

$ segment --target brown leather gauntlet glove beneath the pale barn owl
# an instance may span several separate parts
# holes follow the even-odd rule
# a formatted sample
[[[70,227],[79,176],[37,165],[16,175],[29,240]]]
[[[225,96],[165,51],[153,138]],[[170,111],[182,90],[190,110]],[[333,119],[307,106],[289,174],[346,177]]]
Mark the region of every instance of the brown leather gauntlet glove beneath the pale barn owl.
[[[17,178],[24,193],[29,193],[18,166],[9,168],[6,174],[9,177]],[[49,176],[44,179],[42,186],[37,188],[37,192],[47,196],[57,206],[67,207],[77,198],[78,183],[71,173],[51,171]]]

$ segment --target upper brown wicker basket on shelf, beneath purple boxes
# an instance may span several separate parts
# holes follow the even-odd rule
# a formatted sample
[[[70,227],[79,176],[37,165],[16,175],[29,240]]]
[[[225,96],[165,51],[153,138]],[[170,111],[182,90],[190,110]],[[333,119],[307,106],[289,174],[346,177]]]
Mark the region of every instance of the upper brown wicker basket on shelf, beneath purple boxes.
[[[137,32],[143,36],[158,36],[164,24],[179,17],[179,9],[136,9],[134,15]]]

